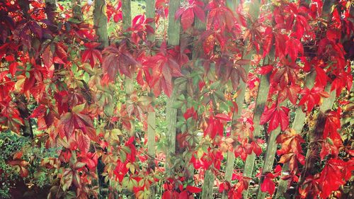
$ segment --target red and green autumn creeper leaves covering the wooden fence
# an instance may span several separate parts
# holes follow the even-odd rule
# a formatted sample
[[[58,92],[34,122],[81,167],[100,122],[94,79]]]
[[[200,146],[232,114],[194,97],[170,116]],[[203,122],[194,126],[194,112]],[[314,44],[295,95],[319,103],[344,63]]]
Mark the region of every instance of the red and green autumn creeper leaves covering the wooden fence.
[[[133,16],[123,30],[122,3],[107,1],[102,10],[114,31],[104,47],[91,3],[81,2],[81,21],[60,2],[51,12],[45,1],[0,1],[0,130],[30,137],[6,159],[18,181],[50,176],[49,198],[197,198],[205,197],[210,172],[215,198],[247,191],[254,198],[255,189],[272,197],[280,181],[295,198],[349,195],[353,2],[181,2],[169,13],[169,1],[156,0],[155,18]],[[163,27],[169,15],[181,23],[180,45],[169,45]],[[261,84],[268,95],[258,95]],[[253,123],[261,97],[260,121]],[[166,98],[177,112],[173,144],[166,138]],[[151,112],[158,120],[154,157],[147,149]],[[301,132],[293,129],[295,113],[307,117]],[[256,126],[261,135],[253,134]],[[271,171],[263,172],[276,130],[278,150]],[[26,157],[40,147],[55,155]],[[231,180],[228,152],[241,162],[232,162]],[[243,166],[253,154],[261,166],[248,176]]]

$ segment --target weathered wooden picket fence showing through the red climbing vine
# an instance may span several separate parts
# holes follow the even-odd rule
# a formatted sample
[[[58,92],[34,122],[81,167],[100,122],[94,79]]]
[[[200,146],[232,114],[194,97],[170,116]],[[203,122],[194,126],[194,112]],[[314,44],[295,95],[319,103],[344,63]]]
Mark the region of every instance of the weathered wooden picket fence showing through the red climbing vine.
[[[77,1],[77,0],[76,0]],[[182,0],[181,0],[182,1]],[[174,17],[174,13],[177,11],[179,6],[181,5],[180,0],[171,0],[169,3],[169,27],[168,27],[168,44],[173,46],[173,45],[179,45],[180,44],[180,33],[181,33],[181,28],[180,28],[180,21],[176,21]],[[207,0],[204,0],[206,3]],[[154,0],[147,0],[147,17],[149,18],[154,18]],[[260,1],[256,0],[253,2],[254,4],[251,6],[249,10],[249,14],[251,18],[257,19],[258,14],[260,12]],[[330,1],[326,1],[325,4],[329,4]],[[130,28],[131,21],[132,21],[132,16],[131,16],[131,2],[130,0],[122,0],[122,17],[123,17],[123,28],[126,30],[127,28]],[[237,0],[228,0],[227,1],[227,6],[229,6],[230,9],[235,9],[237,4],[239,4],[239,1]],[[96,33],[99,36],[100,42],[103,43],[103,47],[106,47],[108,45],[108,35],[107,35],[107,18],[105,16],[105,0],[95,0],[94,1],[94,23],[96,25]],[[152,27],[154,26],[154,23],[151,24]],[[198,19],[195,21],[195,28],[198,28],[198,30],[205,30],[205,23],[202,23]],[[148,39],[150,41],[154,41],[155,37],[154,35],[150,34],[148,35]],[[246,43],[249,41],[246,41]],[[198,57],[198,47],[194,48],[193,51],[193,57]],[[246,53],[244,52],[244,57],[243,59],[252,59],[254,52],[249,52]],[[275,59],[274,53],[270,53],[268,58],[265,60],[265,62],[273,62],[273,59]],[[245,65],[244,69],[246,70],[246,74],[249,73],[250,65]],[[314,85],[314,72],[311,72],[307,75],[306,77],[306,82],[305,86],[308,88],[311,88]],[[132,84],[133,80],[126,78],[125,79],[125,88],[127,94],[132,93]],[[241,117],[241,108],[244,107],[244,96],[245,96],[245,91],[246,91],[246,83],[241,82],[239,84],[239,90],[241,91],[239,93],[239,96],[236,99],[236,103],[239,107],[238,113],[234,114],[234,118],[232,120],[236,121]],[[173,155],[176,152],[176,123],[177,123],[177,113],[178,110],[176,108],[173,108],[173,103],[176,101],[176,98],[178,97],[178,93],[181,93],[181,91],[178,91],[178,86],[173,86],[174,90],[171,95],[171,98],[168,99],[167,106],[166,106],[166,120],[168,122],[168,132],[166,132],[167,135],[167,140],[170,144],[169,151],[166,151],[166,175],[167,176],[173,176],[173,169],[171,164],[171,159]],[[261,120],[261,115],[263,113],[263,110],[265,106],[267,106],[267,98],[268,98],[268,92],[270,89],[270,82],[269,82],[269,76],[261,76],[260,79],[260,84],[259,84],[259,89],[258,89],[258,96],[256,98],[256,108],[254,110],[254,115],[253,115],[253,123],[254,123],[254,132],[253,135],[254,137],[258,136],[263,136],[266,132],[263,128],[263,125],[260,125],[260,120]],[[329,90],[329,87],[327,88]],[[153,96],[152,93],[149,94],[149,96]],[[327,109],[331,109],[331,105],[333,104],[333,101],[335,99],[335,93],[332,92],[331,96],[329,98],[326,98],[324,103],[321,105],[321,111],[324,112]],[[285,104],[287,101],[284,102]],[[307,115],[303,113],[301,108],[296,108],[295,110],[295,119],[292,121],[292,129],[295,130],[295,132],[302,134],[303,126],[306,120]],[[155,142],[154,142],[154,137],[155,137],[155,128],[156,128],[156,118],[155,118],[155,113],[154,112],[149,112],[147,116],[147,123],[148,123],[148,144],[147,144],[147,150],[149,157],[154,159],[155,156]],[[134,128],[132,128],[134,130]],[[266,151],[265,151],[265,157],[263,157],[263,171],[262,174],[266,174],[267,172],[272,171],[274,161],[275,161],[275,152],[278,147],[278,144],[276,143],[276,137],[282,133],[280,130],[280,127],[278,127],[276,130],[273,130],[270,132],[270,135],[268,137],[268,140],[266,140]],[[311,133],[311,132],[309,132]],[[244,176],[249,177],[249,178],[254,178],[253,170],[254,170],[254,165],[255,165],[255,160],[256,160],[256,155],[252,153],[249,155],[246,159],[245,166],[244,166]],[[227,160],[226,160],[226,166],[225,166],[225,181],[232,181],[232,173],[234,171],[234,162],[235,162],[235,156],[234,152],[228,152],[227,153]],[[149,166],[153,166],[153,161],[150,161]],[[287,165],[283,166],[283,171],[287,170]],[[212,198],[213,195],[215,195],[215,191],[217,191],[217,188],[214,187],[214,181],[215,181],[215,176],[212,173],[212,170],[207,170],[205,171],[205,179],[204,183],[202,185],[202,193],[201,193],[201,198],[203,199],[208,199]],[[263,181],[263,178],[260,179],[260,183]],[[283,181],[280,179],[279,185],[277,188],[277,191],[275,193],[275,198],[280,198],[283,193],[287,190],[287,181]],[[151,191],[151,198],[154,198],[154,187],[152,188]],[[256,195],[256,198],[265,198],[265,193],[261,191],[260,188],[258,188],[258,191],[255,193],[249,193],[249,190],[244,191],[244,198],[249,198],[250,195]],[[254,196],[252,196],[254,197]],[[227,198],[226,193],[222,193],[222,198]]]

